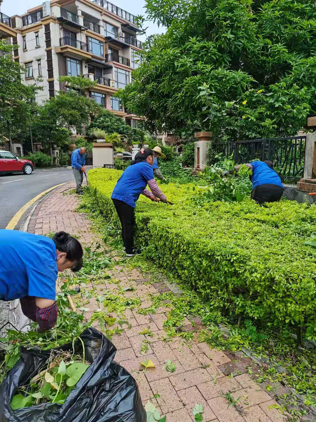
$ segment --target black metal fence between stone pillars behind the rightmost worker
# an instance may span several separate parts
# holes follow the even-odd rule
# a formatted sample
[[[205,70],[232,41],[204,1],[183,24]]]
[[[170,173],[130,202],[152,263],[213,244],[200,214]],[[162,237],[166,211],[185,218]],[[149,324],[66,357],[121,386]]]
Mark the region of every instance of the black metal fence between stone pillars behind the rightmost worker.
[[[236,164],[253,160],[270,160],[281,179],[296,181],[303,177],[306,136],[287,138],[252,139],[213,143],[215,154],[230,157]]]

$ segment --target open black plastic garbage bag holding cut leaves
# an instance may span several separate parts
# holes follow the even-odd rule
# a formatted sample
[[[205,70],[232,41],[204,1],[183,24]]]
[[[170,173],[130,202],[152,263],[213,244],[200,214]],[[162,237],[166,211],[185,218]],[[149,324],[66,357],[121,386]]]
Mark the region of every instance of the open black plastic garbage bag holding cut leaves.
[[[100,331],[89,327],[80,335],[91,365],[63,405],[43,403],[12,410],[19,386],[27,385],[47,367],[51,351],[23,349],[21,358],[0,386],[0,422],[146,422],[135,379],[114,362],[115,346]],[[82,352],[81,342],[76,349]],[[72,351],[72,344],[53,350]]]

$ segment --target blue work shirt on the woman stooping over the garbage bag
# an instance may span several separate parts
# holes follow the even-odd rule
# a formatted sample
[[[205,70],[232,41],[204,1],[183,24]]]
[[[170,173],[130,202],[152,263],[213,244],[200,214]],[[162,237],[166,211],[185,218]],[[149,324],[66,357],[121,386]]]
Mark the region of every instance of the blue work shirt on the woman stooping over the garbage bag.
[[[56,298],[54,241],[19,230],[0,230],[0,300]]]

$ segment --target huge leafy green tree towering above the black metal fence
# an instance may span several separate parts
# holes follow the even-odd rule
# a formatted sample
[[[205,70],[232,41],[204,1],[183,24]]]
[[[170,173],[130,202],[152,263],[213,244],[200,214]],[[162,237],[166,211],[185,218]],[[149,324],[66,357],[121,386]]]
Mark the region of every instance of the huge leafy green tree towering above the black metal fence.
[[[146,0],[149,37],[118,95],[150,132],[295,135],[316,114],[314,0]]]

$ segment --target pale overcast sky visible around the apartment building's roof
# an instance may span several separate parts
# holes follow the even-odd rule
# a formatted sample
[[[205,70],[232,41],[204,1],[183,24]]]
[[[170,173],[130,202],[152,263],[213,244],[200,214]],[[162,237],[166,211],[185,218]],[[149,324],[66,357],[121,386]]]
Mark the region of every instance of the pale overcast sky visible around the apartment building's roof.
[[[1,5],[1,11],[8,16],[21,15],[25,13],[27,9],[38,6],[41,3],[42,0],[4,0]],[[145,9],[143,9],[145,5],[144,0],[133,0],[133,2],[129,0],[111,0],[111,3],[128,11],[129,13],[132,13],[133,15],[145,14]],[[148,22],[146,26],[149,27],[147,30],[147,35],[163,32],[161,27],[158,28],[158,26],[152,22]],[[144,38],[144,35],[139,36],[139,39]]]

